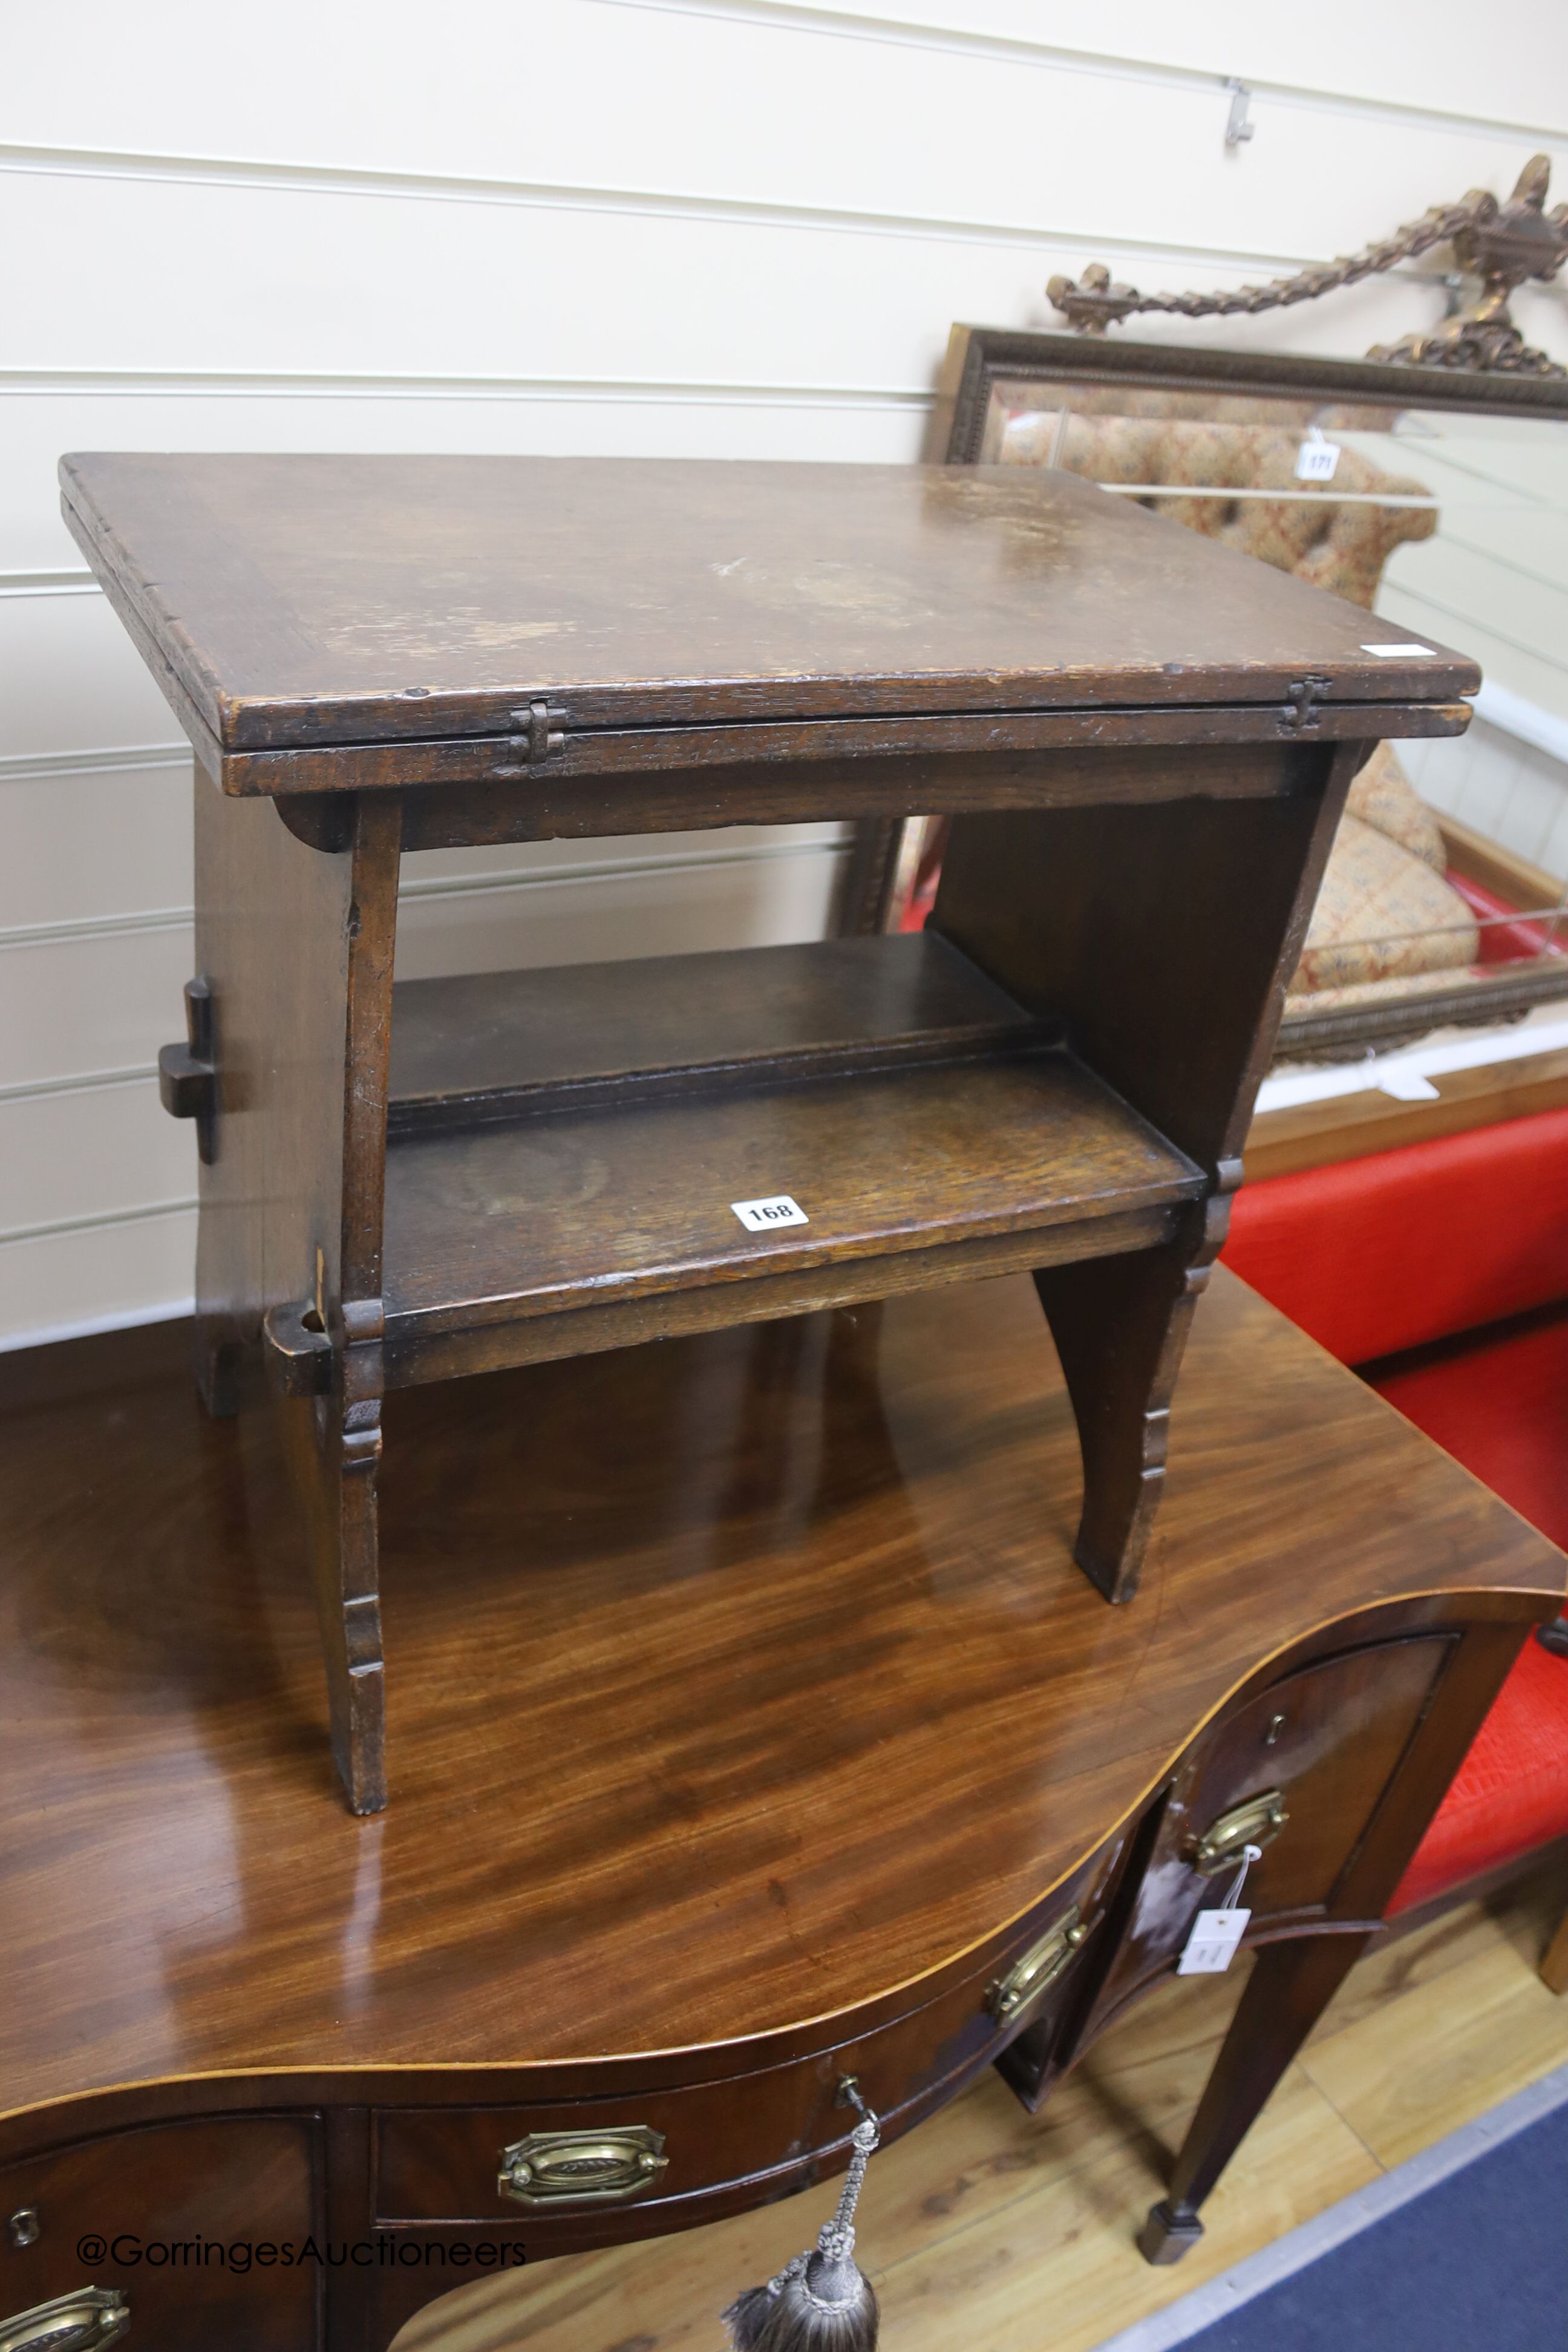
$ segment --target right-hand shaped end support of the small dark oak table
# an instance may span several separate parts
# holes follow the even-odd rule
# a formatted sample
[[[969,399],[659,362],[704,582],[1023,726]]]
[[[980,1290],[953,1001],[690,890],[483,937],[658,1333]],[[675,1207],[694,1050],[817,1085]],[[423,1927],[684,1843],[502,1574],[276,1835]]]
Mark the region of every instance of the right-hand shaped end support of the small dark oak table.
[[[1208,755],[1182,769],[1128,748],[1095,755],[1081,804],[952,818],[931,927],[1065,1023],[1072,1051],[1213,1183],[1164,1249],[1034,1277],[1084,1446],[1077,1559],[1114,1602],[1138,1585],[1192,1305],[1361,750],[1260,743],[1227,771],[1255,797],[1220,800]],[[1180,790],[1147,800],[1157,779]],[[1074,786],[1063,755],[1056,783],[1067,797],[1088,776]]]

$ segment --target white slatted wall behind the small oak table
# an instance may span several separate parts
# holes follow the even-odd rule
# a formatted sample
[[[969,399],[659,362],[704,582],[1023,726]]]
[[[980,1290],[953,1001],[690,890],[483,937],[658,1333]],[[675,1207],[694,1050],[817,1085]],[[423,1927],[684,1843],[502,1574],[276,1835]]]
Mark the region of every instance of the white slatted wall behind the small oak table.
[[[1227,75],[1255,139],[1225,148]],[[172,1312],[190,762],[61,449],[919,452],[954,318],[1274,275],[1549,148],[1544,0],[78,0],[0,78],[0,1341]],[[1556,289],[1519,303],[1568,355]],[[1215,339],[1359,353],[1401,273]],[[1192,332],[1192,329],[1182,329]],[[832,828],[411,861],[400,969],[811,936]],[[418,866],[418,873],[414,873]]]

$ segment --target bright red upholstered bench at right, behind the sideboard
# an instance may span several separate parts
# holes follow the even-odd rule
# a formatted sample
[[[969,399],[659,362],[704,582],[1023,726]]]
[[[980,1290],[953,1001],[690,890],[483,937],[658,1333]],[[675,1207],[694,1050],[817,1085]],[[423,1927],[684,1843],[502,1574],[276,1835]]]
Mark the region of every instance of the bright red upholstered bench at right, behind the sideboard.
[[[1568,1550],[1568,1110],[1251,1185],[1225,1261]],[[1568,1656],[1526,1642],[1389,1915],[1559,1842]],[[1568,1922],[1542,1973],[1568,1990]]]

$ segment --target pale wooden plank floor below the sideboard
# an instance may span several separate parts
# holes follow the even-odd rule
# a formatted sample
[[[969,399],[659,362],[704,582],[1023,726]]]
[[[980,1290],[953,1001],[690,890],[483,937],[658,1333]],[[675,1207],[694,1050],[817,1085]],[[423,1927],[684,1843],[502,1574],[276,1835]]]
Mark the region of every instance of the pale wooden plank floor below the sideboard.
[[[1039,2117],[994,2074],[872,2161],[860,2256],[884,2352],[1091,2352],[1568,2060],[1535,1976],[1568,1886],[1535,1879],[1363,1959],[1175,2270],[1133,2249],[1241,1990],[1171,1980]],[[722,2352],[717,2312],[809,2244],[823,2187],[679,2237],[541,2263],[428,2305],[397,2352]]]

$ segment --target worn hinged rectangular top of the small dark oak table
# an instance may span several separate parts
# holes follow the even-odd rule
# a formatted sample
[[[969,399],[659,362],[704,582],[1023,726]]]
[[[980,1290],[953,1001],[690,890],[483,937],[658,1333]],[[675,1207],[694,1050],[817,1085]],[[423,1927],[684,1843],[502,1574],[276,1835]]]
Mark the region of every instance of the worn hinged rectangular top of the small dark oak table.
[[[1034,468],[87,454],[61,482],[226,753],[496,736],[536,699],[646,729],[1255,706],[1307,675],[1427,706],[1481,675],[1368,654],[1401,633]]]

